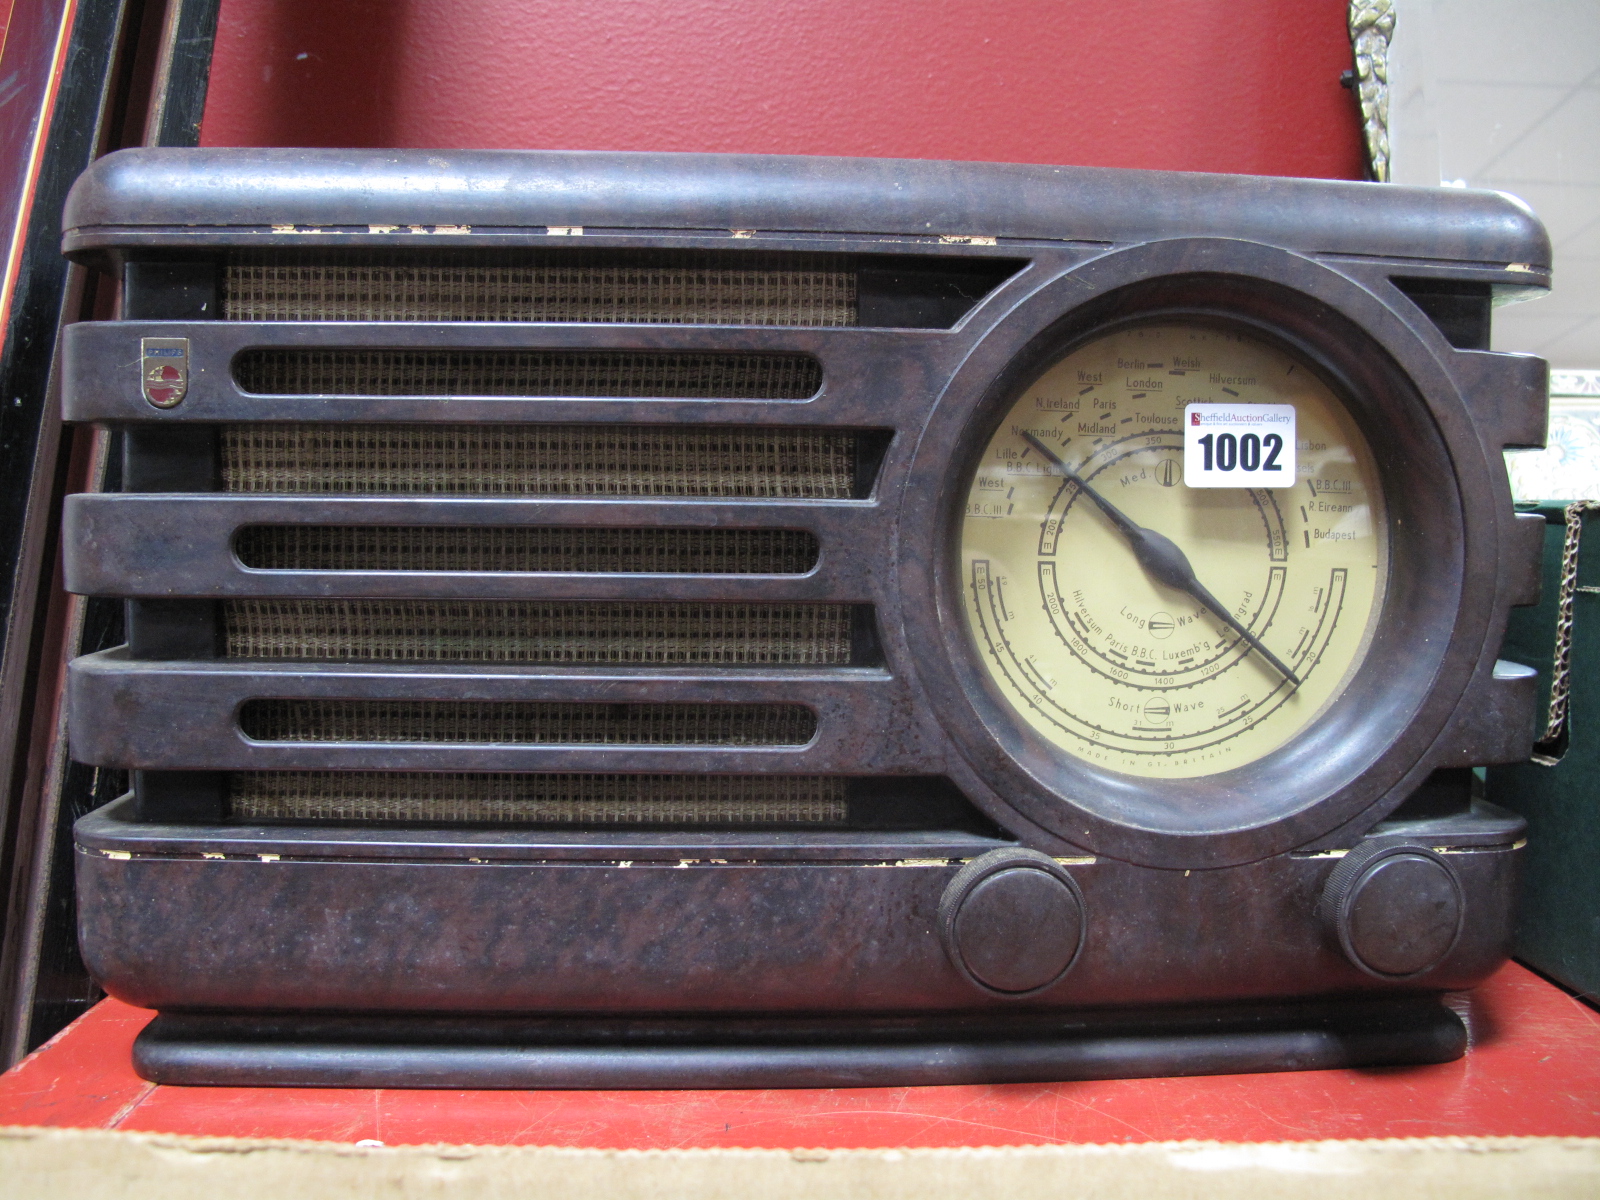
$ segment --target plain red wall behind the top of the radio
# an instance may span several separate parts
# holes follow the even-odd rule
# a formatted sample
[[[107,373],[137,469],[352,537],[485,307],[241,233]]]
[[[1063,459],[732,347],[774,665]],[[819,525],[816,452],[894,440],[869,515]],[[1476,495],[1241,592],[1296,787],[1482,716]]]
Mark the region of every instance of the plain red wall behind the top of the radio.
[[[1346,0],[222,0],[205,146],[1360,178]]]

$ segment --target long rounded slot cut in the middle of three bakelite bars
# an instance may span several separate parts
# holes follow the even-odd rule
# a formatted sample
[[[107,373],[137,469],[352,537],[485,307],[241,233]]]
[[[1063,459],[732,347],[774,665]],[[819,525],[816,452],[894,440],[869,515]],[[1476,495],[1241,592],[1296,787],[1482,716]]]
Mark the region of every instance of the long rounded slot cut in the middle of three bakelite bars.
[[[267,571],[550,571],[566,574],[803,574],[803,530],[248,525],[234,550]]]

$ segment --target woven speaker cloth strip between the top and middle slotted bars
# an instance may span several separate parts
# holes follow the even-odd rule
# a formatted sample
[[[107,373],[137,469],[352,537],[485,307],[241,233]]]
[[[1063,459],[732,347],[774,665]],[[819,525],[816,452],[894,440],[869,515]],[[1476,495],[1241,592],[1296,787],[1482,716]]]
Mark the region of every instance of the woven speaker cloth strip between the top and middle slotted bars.
[[[222,486],[366,496],[848,499],[856,434],[682,426],[222,427]]]

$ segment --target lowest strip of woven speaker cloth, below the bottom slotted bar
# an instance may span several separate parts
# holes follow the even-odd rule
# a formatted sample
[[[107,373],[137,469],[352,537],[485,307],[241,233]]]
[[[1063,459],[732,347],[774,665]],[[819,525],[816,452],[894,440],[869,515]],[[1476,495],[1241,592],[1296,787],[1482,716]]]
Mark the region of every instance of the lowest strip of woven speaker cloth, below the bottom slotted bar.
[[[837,776],[240,771],[227,789],[242,821],[818,826],[846,816]]]

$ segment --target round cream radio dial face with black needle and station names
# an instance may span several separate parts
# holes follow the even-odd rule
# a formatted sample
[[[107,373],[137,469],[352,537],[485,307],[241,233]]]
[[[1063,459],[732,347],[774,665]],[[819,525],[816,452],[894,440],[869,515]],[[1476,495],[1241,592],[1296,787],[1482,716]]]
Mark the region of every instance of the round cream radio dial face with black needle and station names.
[[[1184,483],[1184,406],[1294,405],[1282,488]],[[1077,475],[1077,480],[1070,478]],[[1094,339],[984,448],[962,520],[978,658],[1069,755],[1154,779],[1290,741],[1365,654],[1389,574],[1371,450],[1291,355],[1210,325]]]

